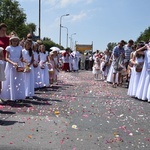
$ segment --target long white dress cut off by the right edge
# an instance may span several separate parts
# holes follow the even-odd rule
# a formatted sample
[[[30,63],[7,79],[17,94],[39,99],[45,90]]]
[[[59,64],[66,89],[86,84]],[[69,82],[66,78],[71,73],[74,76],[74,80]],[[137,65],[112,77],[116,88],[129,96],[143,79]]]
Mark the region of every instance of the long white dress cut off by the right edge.
[[[150,102],[150,50],[145,51],[144,65],[135,96]]]

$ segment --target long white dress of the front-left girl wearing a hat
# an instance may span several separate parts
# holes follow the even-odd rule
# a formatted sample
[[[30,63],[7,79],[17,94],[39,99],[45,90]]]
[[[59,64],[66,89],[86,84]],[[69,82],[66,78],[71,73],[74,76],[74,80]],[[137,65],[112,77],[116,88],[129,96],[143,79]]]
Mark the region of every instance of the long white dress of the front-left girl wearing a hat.
[[[20,56],[21,46],[8,46],[6,51],[9,52],[9,59],[21,65]],[[15,67],[7,62],[5,67],[6,80],[2,85],[1,98],[6,100],[25,99],[24,73],[17,72]]]

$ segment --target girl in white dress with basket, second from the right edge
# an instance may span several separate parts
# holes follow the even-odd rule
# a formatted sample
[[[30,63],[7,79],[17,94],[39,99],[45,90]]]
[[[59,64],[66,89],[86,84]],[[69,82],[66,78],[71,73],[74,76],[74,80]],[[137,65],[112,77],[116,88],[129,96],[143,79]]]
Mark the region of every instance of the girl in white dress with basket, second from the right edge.
[[[138,88],[139,79],[141,76],[141,70],[144,64],[144,55],[134,53],[131,63],[133,64],[133,67],[132,67],[132,72],[131,72],[131,77],[129,82],[128,95],[135,97]],[[139,66],[139,70],[137,69],[138,66]]]

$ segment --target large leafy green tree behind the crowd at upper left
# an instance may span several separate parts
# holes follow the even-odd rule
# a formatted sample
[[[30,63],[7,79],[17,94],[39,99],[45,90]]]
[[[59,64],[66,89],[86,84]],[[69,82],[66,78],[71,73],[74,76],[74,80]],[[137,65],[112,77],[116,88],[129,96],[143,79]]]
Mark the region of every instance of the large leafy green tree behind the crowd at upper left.
[[[26,37],[27,33],[34,32],[36,25],[34,23],[25,24],[26,14],[17,0],[1,0],[0,1],[0,22],[4,22],[8,26],[8,34],[16,31],[18,36]]]

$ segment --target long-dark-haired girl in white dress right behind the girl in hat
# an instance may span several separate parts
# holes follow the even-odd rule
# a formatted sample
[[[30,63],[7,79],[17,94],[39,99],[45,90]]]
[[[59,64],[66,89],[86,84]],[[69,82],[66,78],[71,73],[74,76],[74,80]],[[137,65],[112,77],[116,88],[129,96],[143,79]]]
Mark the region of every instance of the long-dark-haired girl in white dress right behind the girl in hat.
[[[26,68],[24,72],[25,96],[26,98],[32,99],[34,96],[34,56],[31,47],[32,40],[27,39],[24,43],[24,49],[22,50],[22,61]]]

